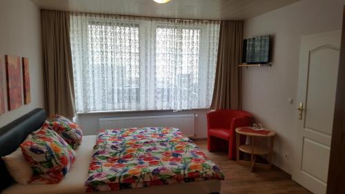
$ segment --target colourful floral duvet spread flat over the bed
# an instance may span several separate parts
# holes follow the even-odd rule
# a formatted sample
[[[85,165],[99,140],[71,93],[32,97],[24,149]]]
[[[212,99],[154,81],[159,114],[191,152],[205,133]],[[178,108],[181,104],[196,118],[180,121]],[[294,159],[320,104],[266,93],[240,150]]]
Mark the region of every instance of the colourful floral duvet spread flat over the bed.
[[[224,175],[178,128],[124,128],[99,131],[86,186],[117,191],[204,180]]]

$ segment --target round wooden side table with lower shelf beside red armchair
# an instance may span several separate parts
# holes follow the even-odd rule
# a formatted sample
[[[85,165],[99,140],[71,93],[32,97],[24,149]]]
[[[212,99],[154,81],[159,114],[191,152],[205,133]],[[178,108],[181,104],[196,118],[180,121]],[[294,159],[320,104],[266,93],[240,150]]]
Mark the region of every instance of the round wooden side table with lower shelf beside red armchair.
[[[260,132],[255,130],[250,130],[250,126],[246,127],[239,127],[236,128],[236,151],[237,151],[237,163],[243,164],[247,166],[251,166],[253,171],[254,167],[259,168],[270,168],[271,162],[272,162],[272,154],[273,154],[273,144],[275,142],[275,131],[273,130],[266,130],[266,132]],[[246,135],[247,137],[250,137],[250,144],[243,144],[239,145],[239,136],[240,135]],[[270,144],[268,148],[255,145],[255,142],[259,140],[260,138],[270,138]],[[244,153],[250,154],[250,161],[239,159],[239,151],[242,151]],[[256,156],[257,155],[268,155],[268,164],[262,164],[262,163],[255,163]]]

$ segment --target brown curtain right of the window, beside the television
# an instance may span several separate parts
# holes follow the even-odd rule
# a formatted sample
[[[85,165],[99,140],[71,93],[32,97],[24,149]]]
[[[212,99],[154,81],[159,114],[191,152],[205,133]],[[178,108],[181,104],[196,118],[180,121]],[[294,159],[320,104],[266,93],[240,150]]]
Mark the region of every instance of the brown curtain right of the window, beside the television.
[[[242,59],[242,21],[221,21],[215,89],[210,109],[240,110]]]

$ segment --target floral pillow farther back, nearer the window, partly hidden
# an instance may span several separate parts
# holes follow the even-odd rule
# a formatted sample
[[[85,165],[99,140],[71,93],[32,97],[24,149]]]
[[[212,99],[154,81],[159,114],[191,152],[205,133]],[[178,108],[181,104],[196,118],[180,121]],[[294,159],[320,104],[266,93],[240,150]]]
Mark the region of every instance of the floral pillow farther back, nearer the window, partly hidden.
[[[77,149],[81,144],[83,132],[78,124],[65,117],[55,115],[48,124],[58,133],[73,149]]]

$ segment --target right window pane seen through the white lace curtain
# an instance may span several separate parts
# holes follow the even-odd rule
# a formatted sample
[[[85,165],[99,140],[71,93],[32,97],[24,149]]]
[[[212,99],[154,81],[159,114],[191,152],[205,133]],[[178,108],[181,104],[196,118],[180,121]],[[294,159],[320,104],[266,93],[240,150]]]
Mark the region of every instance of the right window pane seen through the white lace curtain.
[[[156,29],[155,97],[159,108],[179,104],[189,109],[197,104],[199,34],[199,29]]]

